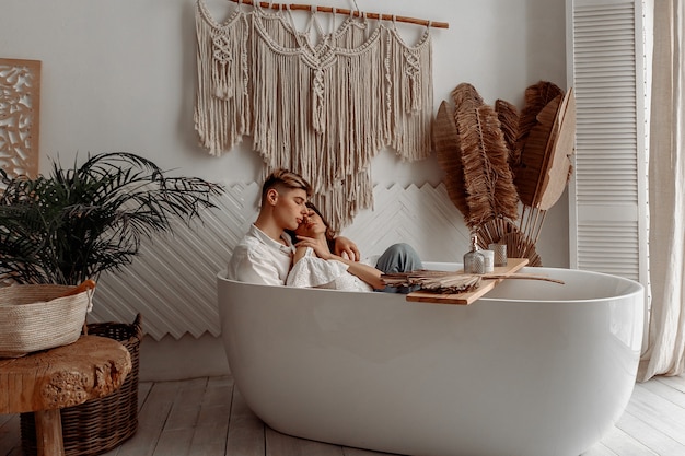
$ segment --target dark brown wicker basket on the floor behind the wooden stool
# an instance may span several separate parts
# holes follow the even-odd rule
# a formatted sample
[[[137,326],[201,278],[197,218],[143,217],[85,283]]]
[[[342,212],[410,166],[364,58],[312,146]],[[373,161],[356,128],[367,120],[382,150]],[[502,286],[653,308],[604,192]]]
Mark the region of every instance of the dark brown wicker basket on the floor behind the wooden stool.
[[[138,360],[142,338],[140,314],[131,325],[88,325],[88,334],[121,342],[131,355],[132,369],[124,385],[109,396],[60,410],[65,456],[106,453],[130,439],[138,430]],[[21,414],[21,434],[24,456],[36,455],[33,413]]]

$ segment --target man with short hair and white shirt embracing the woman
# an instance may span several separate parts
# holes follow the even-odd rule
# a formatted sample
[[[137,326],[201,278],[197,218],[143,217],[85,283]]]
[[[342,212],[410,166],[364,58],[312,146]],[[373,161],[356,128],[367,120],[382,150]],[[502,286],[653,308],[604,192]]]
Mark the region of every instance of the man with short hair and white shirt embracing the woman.
[[[286,169],[271,173],[262,186],[257,220],[233,249],[227,277],[231,280],[267,285],[286,283],[294,246],[286,230],[294,231],[309,213],[310,184]],[[336,249],[359,260],[357,246],[347,238],[336,239]]]

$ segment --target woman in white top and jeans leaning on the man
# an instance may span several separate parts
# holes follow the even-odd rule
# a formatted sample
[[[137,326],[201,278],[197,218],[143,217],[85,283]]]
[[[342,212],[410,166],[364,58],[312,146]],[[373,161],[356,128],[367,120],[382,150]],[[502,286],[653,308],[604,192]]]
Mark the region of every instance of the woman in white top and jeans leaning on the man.
[[[333,237],[333,230],[314,204],[307,203],[307,208],[310,211],[294,232],[298,243],[287,285],[348,291],[410,291],[385,288],[381,279],[384,272],[406,272],[422,268],[421,260],[410,246],[391,246],[379,258],[375,267],[368,261],[353,261],[334,255],[328,242]]]

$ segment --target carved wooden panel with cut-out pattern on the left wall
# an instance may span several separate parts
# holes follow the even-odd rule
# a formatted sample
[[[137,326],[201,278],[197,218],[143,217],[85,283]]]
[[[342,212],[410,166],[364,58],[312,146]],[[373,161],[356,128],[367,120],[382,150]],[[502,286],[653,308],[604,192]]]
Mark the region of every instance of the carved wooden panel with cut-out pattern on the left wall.
[[[38,174],[40,60],[0,59],[0,167]]]

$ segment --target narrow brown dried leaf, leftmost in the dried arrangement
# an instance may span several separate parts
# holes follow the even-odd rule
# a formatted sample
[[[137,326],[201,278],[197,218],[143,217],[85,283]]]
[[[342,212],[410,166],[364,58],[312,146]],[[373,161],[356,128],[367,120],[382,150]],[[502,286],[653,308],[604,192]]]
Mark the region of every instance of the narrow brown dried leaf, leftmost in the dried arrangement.
[[[438,164],[445,173],[444,183],[450,200],[464,215],[464,219],[468,219],[458,130],[454,122],[454,110],[444,101],[440,104],[433,122],[433,147]]]

